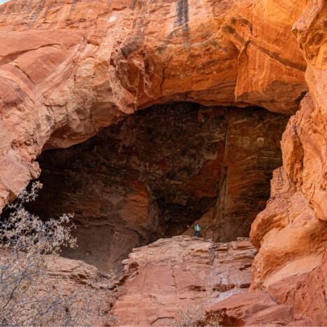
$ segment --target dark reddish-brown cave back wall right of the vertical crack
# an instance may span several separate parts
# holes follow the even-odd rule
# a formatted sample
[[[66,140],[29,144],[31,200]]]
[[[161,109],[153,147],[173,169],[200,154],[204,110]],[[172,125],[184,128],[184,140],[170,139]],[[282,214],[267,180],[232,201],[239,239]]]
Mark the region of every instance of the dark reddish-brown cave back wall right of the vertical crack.
[[[249,235],[252,221],[266,206],[279,141],[288,117],[265,110],[228,110],[224,173],[212,224],[213,238],[230,242]]]

